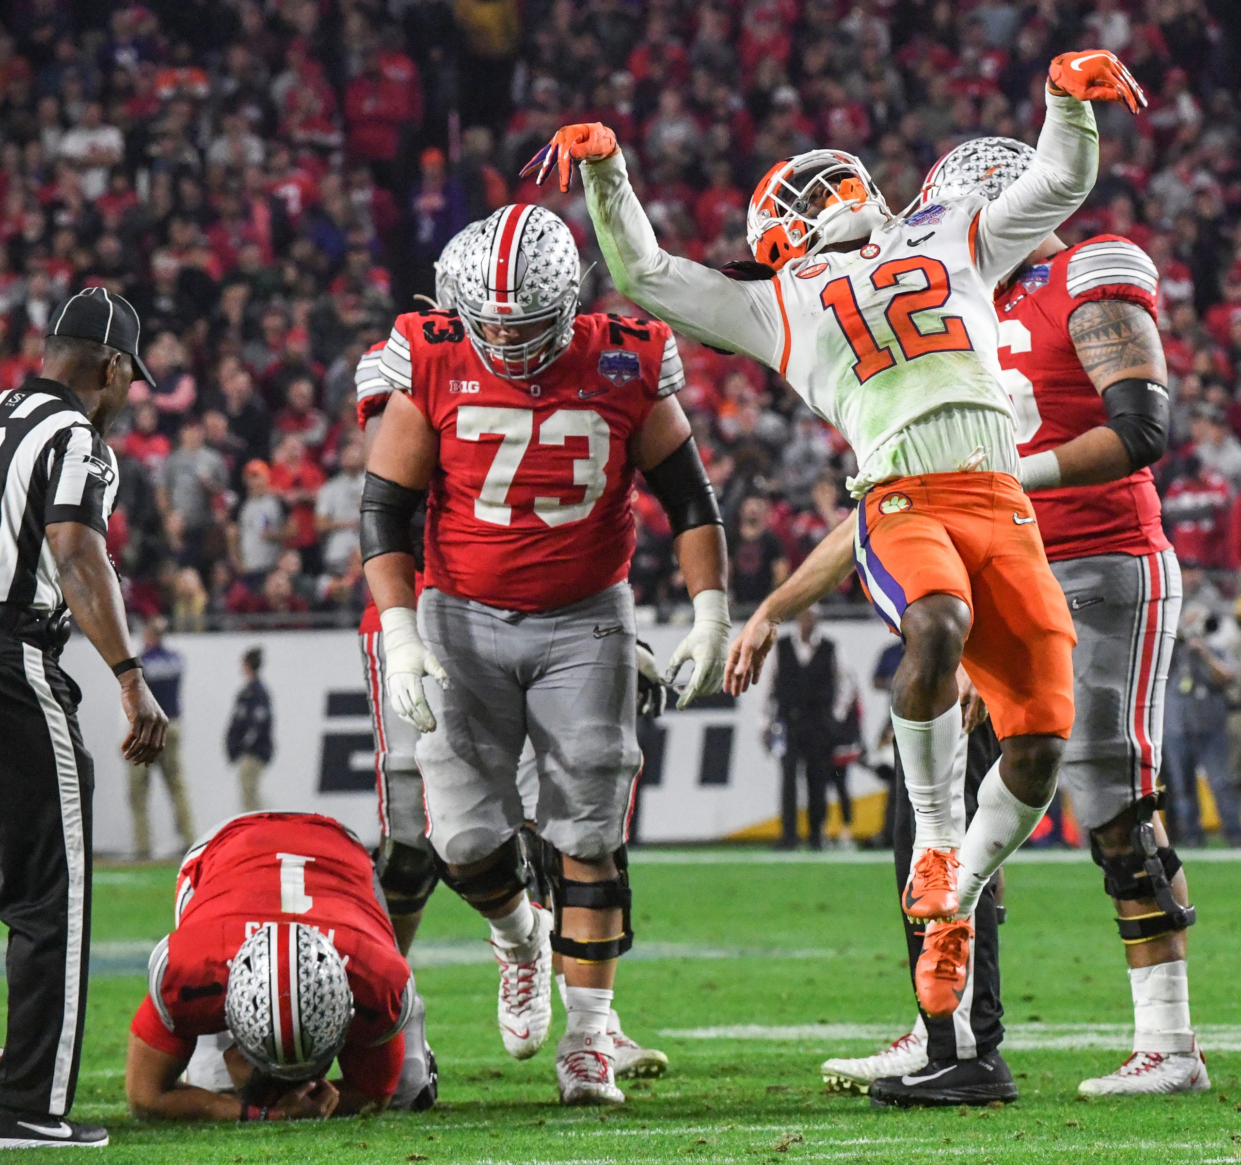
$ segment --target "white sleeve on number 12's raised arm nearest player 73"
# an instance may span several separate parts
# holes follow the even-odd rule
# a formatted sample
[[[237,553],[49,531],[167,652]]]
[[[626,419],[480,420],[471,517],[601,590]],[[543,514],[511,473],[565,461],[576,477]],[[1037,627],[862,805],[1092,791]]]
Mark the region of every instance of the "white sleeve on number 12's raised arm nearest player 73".
[[[582,166],[586,205],[617,290],[676,331],[778,368],[784,324],[773,280],[745,283],[660,251],[624,156]]]

